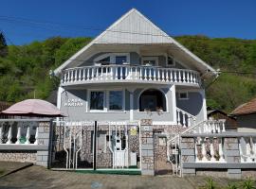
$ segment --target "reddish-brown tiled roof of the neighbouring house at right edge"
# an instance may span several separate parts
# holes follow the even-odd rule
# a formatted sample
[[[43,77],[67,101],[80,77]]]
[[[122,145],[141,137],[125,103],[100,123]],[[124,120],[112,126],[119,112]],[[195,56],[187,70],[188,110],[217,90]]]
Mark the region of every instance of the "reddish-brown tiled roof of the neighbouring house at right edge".
[[[256,97],[248,101],[247,103],[240,105],[233,112],[231,112],[232,115],[250,114],[250,113],[256,113]]]

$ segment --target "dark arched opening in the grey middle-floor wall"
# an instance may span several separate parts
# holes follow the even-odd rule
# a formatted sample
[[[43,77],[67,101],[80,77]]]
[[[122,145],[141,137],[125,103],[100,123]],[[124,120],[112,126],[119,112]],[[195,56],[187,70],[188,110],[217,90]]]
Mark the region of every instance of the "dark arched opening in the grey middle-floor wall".
[[[166,112],[165,95],[159,90],[149,89],[139,96],[139,112]]]

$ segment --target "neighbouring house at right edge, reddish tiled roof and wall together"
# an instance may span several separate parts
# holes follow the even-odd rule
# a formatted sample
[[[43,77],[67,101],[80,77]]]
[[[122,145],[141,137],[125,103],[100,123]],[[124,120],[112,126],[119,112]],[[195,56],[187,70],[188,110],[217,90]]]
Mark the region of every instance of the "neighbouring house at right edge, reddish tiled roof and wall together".
[[[256,132],[256,97],[237,107],[232,116],[235,116],[240,132]]]

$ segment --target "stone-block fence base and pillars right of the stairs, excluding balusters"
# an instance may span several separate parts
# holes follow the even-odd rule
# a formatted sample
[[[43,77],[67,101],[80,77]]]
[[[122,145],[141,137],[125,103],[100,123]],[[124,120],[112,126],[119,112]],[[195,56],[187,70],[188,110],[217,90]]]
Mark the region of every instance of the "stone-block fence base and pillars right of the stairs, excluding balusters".
[[[196,163],[194,153],[196,134],[194,136],[183,135],[180,144],[182,176],[207,175],[229,177],[230,179],[241,179],[245,178],[246,176],[255,176],[255,163],[241,163],[239,137],[240,136],[238,135],[222,136],[224,141],[223,152],[226,162]]]

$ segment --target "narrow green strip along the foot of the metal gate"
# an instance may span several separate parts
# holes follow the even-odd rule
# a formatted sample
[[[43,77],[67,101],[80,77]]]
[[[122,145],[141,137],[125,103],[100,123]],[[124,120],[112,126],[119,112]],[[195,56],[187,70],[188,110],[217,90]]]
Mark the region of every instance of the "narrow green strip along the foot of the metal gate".
[[[129,170],[76,170],[75,172],[84,174],[141,175],[141,171]]]

